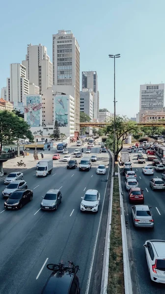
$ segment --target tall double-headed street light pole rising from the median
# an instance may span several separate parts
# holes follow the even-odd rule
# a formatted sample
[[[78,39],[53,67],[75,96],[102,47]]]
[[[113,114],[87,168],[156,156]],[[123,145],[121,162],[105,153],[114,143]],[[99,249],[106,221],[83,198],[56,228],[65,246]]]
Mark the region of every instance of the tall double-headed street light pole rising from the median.
[[[115,58],[120,58],[120,54],[109,54],[110,58],[114,59],[114,126],[113,126],[113,176],[115,176],[115,144],[116,144],[116,96],[115,96]]]

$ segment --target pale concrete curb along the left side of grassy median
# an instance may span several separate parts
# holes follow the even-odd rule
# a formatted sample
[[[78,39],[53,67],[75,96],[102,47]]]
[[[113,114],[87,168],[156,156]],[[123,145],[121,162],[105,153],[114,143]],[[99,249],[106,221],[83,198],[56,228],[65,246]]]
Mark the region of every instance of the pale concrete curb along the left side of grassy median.
[[[112,195],[113,195],[113,156],[111,151],[110,156],[112,159],[112,171],[111,171],[111,186],[110,186],[110,201],[107,217],[107,230],[106,230],[106,240],[104,249],[104,260],[103,260],[103,270],[102,270],[102,281],[101,281],[101,292],[100,294],[107,293],[108,287],[108,277],[109,277],[109,259],[110,259],[110,231],[111,231],[111,216],[112,216]]]

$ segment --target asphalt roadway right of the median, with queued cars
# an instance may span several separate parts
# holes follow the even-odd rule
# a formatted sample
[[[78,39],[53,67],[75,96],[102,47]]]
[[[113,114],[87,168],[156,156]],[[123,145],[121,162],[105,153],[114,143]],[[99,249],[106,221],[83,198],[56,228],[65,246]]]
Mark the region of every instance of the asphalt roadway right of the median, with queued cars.
[[[127,149],[123,149],[126,152]],[[144,153],[145,154],[145,153]],[[146,154],[145,164],[138,164],[137,155],[131,153],[131,162],[133,163],[133,171],[137,172],[137,179],[139,187],[144,190],[144,204],[152,207],[152,213],[154,218],[154,229],[140,229],[135,228],[133,225],[131,206],[129,203],[128,192],[125,189],[125,177],[121,175],[122,191],[124,199],[126,226],[127,226],[127,238],[130,249],[130,264],[132,280],[136,284],[136,273],[138,282],[137,285],[133,284],[133,293],[140,294],[165,294],[165,285],[158,284],[150,281],[147,262],[145,258],[145,250],[143,244],[149,239],[161,239],[165,240],[165,191],[152,191],[149,181],[152,178],[162,178],[162,172],[154,171],[154,175],[144,175],[142,173],[143,166],[152,166],[151,161],[147,160]],[[160,158],[159,158],[160,159]],[[132,243],[132,244],[131,244]]]

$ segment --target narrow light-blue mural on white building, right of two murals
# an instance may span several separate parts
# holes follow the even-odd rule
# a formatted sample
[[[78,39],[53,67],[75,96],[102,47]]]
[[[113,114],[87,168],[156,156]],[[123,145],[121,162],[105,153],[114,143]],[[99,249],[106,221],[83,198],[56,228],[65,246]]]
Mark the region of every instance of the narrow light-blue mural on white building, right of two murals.
[[[68,126],[68,96],[55,96],[55,120],[58,126]]]

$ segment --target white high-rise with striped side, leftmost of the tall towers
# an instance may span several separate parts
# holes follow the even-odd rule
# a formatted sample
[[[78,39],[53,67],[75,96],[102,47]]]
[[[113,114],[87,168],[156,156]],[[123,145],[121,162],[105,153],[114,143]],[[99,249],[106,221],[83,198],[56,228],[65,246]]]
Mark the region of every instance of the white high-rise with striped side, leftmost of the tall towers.
[[[26,78],[26,68],[20,63],[10,64],[10,77],[7,78],[6,100],[23,102],[28,95],[29,82]]]

